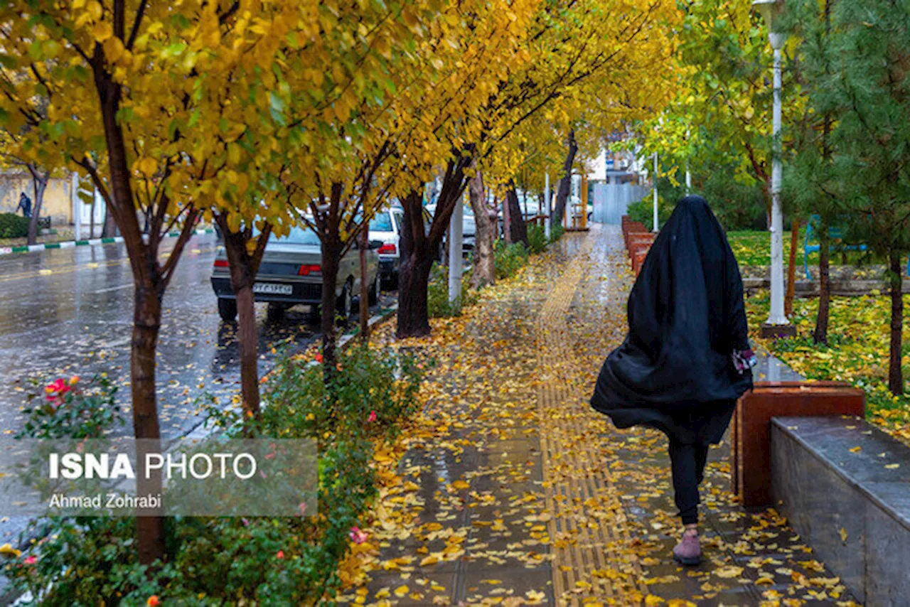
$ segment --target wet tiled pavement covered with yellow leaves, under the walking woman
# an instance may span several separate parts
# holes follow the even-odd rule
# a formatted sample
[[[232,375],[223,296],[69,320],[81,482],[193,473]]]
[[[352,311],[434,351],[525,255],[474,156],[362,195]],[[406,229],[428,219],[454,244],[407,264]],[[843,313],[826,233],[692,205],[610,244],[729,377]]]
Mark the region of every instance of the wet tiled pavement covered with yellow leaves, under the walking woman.
[[[435,338],[403,344],[438,360],[433,397],[367,529],[378,554],[340,602],[850,604],[785,521],[734,503],[724,444],[703,485],[705,561],[670,558],[666,439],[587,405],[625,334],[621,247],[617,228],[567,235]]]

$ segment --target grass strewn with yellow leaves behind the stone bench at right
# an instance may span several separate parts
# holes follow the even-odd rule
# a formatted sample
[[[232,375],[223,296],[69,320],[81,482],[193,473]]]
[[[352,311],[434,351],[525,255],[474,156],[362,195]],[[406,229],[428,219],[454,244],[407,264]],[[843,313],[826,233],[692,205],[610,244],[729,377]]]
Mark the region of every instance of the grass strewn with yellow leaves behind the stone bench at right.
[[[905,296],[905,308],[910,296]],[[792,369],[809,379],[849,381],[865,390],[866,417],[893,436],[910,443],[910,398],[888,391],[888,351],[891,300],[885,294],[831,299],[828,345],[812,339],[818,299],[795,299],[792,321],[794,339],[758,339],[758,328],[768,317],[768,294],[761,292],[746,301],[753,339]],[[905,379],[910,373],[910,327],[904,323]]]

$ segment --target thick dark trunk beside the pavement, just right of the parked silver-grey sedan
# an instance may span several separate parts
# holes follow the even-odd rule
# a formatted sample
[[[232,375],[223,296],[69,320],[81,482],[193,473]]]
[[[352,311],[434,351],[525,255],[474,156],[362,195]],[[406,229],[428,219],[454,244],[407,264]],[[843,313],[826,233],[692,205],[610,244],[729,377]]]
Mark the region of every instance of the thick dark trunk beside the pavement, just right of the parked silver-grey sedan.
[[[423,216],[420,212],[420,192],[411,192],[404,200],[404,218],[401,221],[399,245],[401,264],[399,266],[399,338],[430,335],[430,310],[427,289],[430,286],[432,258],[425,250]]]

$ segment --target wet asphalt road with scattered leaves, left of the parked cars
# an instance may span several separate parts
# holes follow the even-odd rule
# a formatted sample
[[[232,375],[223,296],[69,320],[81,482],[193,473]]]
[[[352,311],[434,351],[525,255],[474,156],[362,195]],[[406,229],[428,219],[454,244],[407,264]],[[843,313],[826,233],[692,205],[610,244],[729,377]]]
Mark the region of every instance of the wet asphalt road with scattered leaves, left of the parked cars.
[[[168,238],[162,253],[175,242]],[[164,298],[157,385],[165,437],[201,423],[199,397],[229,402],[239,391],[236,328],[218,317],[208,281],[216,248],[212,234],[193,237]],[[388,305],[391,296],[382,299]],[[21,408],[34,391],[28,379],[44,383],[100,372],[121,387],[125,430],[132,429],[132,304],[132,273],[122,244],[0,257],[0,427],[6,434],[22,428]],[[270,321],[265,304],[258,304],[257,319],[260,373],[271,369],[282,351],[305,349],[319,337],[319,327],[303,309]]]

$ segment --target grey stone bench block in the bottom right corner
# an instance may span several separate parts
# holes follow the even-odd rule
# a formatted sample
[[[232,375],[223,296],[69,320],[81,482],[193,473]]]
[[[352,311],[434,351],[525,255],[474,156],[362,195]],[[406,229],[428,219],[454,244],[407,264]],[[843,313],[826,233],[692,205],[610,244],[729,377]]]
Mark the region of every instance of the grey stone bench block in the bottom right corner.
[[[773,498],[866,605],[910,604],[910,448],[854,417],[774,418]]]

